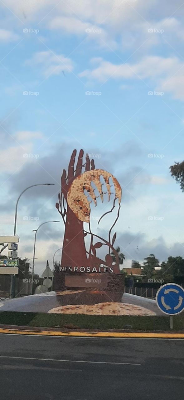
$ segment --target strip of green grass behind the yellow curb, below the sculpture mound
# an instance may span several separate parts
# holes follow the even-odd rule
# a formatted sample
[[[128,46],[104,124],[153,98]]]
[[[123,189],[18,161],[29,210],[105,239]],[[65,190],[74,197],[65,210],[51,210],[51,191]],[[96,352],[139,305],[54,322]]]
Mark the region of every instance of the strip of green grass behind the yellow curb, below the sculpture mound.
[[[125,325],[131,325],[132,330],[169,330],[169,318],[159,317],[138,317],[138,316],[108,316],[108,315],[80,315],[80,314],[45,314],[35,312],[0,312],[0,324],[22,325],[54,328],[59,325],[73,324],[81,329],[90,330],[119,330],[127,329]],[[128,328],[129,329],[129,328]],[[173,330],[184,331],[184,316],[173,318]]]

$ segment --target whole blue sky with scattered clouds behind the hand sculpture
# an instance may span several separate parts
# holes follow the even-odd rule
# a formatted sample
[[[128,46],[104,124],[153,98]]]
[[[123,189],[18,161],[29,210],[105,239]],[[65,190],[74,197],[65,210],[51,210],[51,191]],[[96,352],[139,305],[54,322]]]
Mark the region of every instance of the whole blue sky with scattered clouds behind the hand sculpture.
[[[183,255],[184,194],[169,173],[184,157],[182,1],[4,0],[0,8],[1,234],[13,232],[21,190],[55,183],[20,202],[19,256],[32,258],[32,230],[60,219],[61,172],[83,148],[121,184],[125,265]],[[38,272],[62,237],[62,222],[40,231]]]

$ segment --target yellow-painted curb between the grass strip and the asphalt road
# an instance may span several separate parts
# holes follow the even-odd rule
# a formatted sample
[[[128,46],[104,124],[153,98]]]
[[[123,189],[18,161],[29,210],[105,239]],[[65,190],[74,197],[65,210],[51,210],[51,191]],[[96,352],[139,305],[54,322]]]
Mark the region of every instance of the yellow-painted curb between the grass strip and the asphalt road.
[[[75,336],[89,338],[165,338],[184,339],[184,333],[155,333],[155,332],[61,332],[54,330],[24,330],[0,328],[0,333],[34,336]]]

